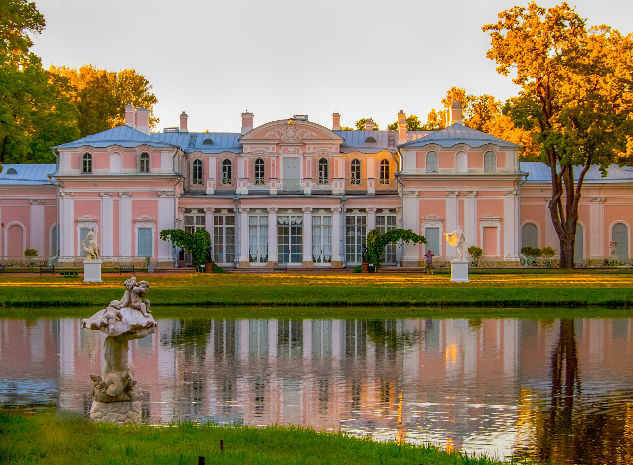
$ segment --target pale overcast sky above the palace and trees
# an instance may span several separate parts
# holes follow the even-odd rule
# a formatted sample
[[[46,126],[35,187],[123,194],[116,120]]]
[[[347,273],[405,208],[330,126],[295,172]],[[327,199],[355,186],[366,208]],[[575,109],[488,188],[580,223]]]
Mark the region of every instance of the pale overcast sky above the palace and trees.
[[[453,85],[517,93],[486,58],[481,30],[516,0],[35,3],[47,23],[33,49],[42,65],[135,68],[158,97],[156,130],[186,111],[189,130],[239,132],[246,109],[256,126],[308,114],[331,127],[339,111],[342,125],[372,116],[386,129],[400,109],[426,121]],[[631,0],[570,4],[589,25],[632,32]]]

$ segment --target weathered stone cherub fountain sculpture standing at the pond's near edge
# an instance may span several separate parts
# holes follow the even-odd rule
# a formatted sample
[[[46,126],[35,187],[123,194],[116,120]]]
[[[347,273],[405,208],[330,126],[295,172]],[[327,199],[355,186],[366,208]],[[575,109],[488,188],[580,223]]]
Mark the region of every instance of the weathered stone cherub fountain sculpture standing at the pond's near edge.
[[[108,337],[103,343],[104,366],[101,376],[92,379],[90,418],[103,423],[134,423],[141,420],[141,390],[134,380],[134,365],[128,362],[128,341],[141,339],[154,332],[156,321],[144,299],[149,290],[147,281],[136,282],[135,276],[125,281],[120,301],[84,319],[82,328],[99,330]]]

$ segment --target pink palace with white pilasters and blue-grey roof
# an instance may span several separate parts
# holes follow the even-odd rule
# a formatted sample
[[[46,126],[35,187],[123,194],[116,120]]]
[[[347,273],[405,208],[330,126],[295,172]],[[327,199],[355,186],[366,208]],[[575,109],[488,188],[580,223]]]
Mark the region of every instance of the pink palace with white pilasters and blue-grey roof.
[[[97,232],[107,262],[151,257],[173,267],[175,251],[161,230],[211,235],[213,259],[232,268],[341,268],[361,263],[367,232],[411,229],[429,245],[388,245],[385,266],[417,267],[430,249],[448,260],[442,232],[458,225],[484,261],[518,265],[525,245],[558,249],[549,220],[548,168],[518,163],[522,147],[461,124],[436,132],[344,131],[308,115],[255,127],[242,113],[241,132],[149,130],[149,111],[126,107],[126,124],[54,147],[57,164],[4,164],[0,173],[0,257],[27,248],[80,261],[80,240]],[[630,260],[633,167],[593,167],[580,202],[576,261],[609,257],[617,242]],[[191,257],[188,257],[191,261]]]

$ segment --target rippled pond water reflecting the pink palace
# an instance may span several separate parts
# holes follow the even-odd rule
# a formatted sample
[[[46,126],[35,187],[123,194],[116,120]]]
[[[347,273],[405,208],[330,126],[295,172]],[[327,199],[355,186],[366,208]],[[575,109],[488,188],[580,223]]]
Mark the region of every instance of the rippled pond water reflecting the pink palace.
[[[633,462],[633,319],[157,319],[149,424],[313,426],[559,463]],[[105,335],[0,319],[0,404],[87,414]]]

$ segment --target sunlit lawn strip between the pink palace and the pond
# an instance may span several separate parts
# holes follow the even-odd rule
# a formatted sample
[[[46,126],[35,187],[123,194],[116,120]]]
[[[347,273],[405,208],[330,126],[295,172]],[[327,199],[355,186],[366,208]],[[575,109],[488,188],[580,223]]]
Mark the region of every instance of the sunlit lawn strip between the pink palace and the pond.
[[[470,283],[448,275],[147,276],[154,306],[220,307],[630,307],[633,274],[479,273]],[[10,307],[101,306],[123,294],[123,278],[0,278]]]

